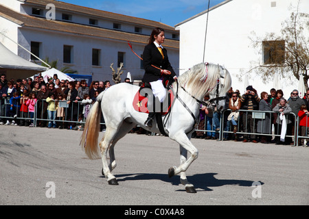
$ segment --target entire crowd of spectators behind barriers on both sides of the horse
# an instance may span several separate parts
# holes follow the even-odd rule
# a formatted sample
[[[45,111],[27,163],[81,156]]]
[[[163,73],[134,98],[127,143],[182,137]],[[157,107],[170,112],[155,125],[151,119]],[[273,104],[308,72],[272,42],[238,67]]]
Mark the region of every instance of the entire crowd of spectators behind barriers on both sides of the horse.
[[[130,79],[125,79],[124,82],[130,82]],[[83,130],[83,123],[78,121],[86,120],[96,96],[110,86],[110,81],[92,81],[88,86],[85,80],[70,82],[58,79],[57,75],[47,82],[40,75],[34,77],[34,80],[28,78],[8,81],[5,74],[2,74],[0,125],[33,127],[36,112],[36,125],[39,127]],[[209,103],[208,94],[204,101]],[[261,92],[260,96],[252,86],[248,86],[242,95],[239,90],[233,91],[230,88],[225,104],[225,109],[229,110],[223,111],[224,115],[221,115],[222,112],[217,112],[211,104],[201,106],[198,131],[192,134],[192,138],[218,139],[220,118],[223,118],[224,140],[293,144],[293,139],[286,136],[293,136],[295,130],[299,130],[300,136],[308,136],[308,108],[309,90],[301,99],[297,90],[293,90],[286,98],[282,90],[274,88],[270,90],[270,94]],[[255,112],[251,112],[252,110]],[[256,113],[257,110],[261,113]],[[295,122],[297,117],[299,123]],[[104,123],[103,116],[101,122]],[[299,129],[295,129],[295,124]],[[101,129],[104,129],[104,125]],[[272,136],[273,129],[276,136]],[[135,127],[130,132],[149,134],[140,127]],[[300,139],[299,144],[307,146],[304,138]]]

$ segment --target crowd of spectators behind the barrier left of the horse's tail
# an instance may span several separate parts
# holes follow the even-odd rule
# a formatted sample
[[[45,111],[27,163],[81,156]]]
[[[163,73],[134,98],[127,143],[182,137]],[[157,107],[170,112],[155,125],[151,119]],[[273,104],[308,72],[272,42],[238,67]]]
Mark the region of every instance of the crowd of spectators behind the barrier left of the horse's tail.
[[[60,80],[56,74],[47,82],[41,75],[34,80],[8,81],[1,74],[0,125],[33,127],[36,112],[39,127],[82,130],[83,125],[76,121],[86,120],[96,96],[109,87],[110,81],[92,81],[87,86],[86,80]]]

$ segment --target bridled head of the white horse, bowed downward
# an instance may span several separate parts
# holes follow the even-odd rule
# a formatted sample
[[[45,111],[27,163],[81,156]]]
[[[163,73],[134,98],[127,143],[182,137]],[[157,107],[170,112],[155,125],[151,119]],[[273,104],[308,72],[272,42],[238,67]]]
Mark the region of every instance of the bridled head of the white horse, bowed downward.
[[[216,106],[217,112],[220,112],[225,108],[227,91],[231,88],[231,75],[227,69],[219,65],[217,65],[217,71],[216,87],[209,92],[209,96],[211,105]]]

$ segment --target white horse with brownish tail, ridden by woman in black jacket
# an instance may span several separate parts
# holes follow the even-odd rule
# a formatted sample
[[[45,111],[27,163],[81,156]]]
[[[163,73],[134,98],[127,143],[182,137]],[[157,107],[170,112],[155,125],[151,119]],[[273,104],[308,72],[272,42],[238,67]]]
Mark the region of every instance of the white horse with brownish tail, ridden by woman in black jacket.
[[[198,157],[198,150],[190,142],[194,124],[199,115],[199,109],[203,98],[209,92],[211,98],[216,100],[217,109],[225,105],[227,90],[231,88],[231,76],[227,69],[217,64],[201,63],[178,77],[178,83],[172,83],[175,94],[171,112],[165,119],[164,131],[168,136],[179,143],[181,152],[181,165],[168,170],[169,177],[181,174],[181,183],[185,185],[187,192],[195,193],[194,186],[187,181],[185,171]],[[91,108],[82,133],[80,144],[90,159],[102,157],[103,172],[109,184],[118,185],[117,179],[111,173],[116,167],[114,146],[135,125],[139,125],[148,131],[160,133],[156,119],[151,129],[145,127],[144,122],[148,114],[137,112],[133,108],[133,98],[138,86],[130,83],[118,83],[102,92]],[[220,98],[221,97],[221,98]],[[106,123],[104,137],[98,146],[100,130],[101,109]],[[163,119],[165,118],[163,116]],[[110,163],[106,155],[109,151]],[[187,151],[190,157],[187,159]]]

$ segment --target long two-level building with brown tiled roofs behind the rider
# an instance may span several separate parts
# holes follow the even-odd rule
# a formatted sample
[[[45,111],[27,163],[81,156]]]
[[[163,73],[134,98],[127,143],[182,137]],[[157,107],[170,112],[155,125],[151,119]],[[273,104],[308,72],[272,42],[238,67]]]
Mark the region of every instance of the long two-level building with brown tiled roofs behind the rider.
[[[0,42],[5,47],[25,60],[36,60],[17,42],[42,60],[58,60],[58,68],[69,66],[80,75],[92,74],[93,80],[112,81],[111,63],[116,70],[120,62],[124,63],[122,79],[128,72],[132,79],[141,79],[141,60],[127,41],[141,55],[154,27],[165,29],[163,46],[177,70],[179,31],[169,25],[54,0],[0,1]]]

